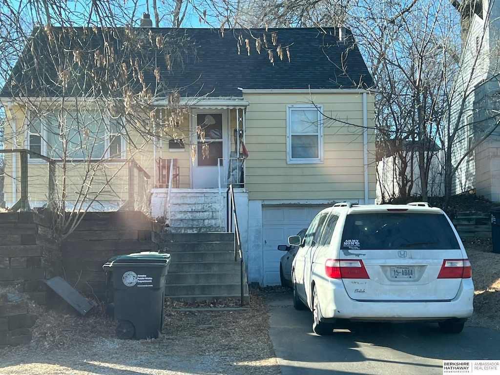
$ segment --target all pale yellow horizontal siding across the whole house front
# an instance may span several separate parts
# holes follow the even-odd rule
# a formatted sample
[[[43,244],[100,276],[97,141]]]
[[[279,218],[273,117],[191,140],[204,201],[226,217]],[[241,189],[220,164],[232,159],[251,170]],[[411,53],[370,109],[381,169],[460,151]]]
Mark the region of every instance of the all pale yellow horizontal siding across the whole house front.
[[[286,163],[286,105],[310,103],[306,94],[245,94],[249,106],[245,112],[245,145],[249,157],[245,160],[245,187],[250,199],[363,199],[363,112],[362,94],[325,93],[314,94],[312,100],[323,105],[323,113],[332,119],[324,120],[323,129],[323,162],[317,164]],[[368,98],[368,126],[373,127],[371,120],[373,100]],[[7,126],[5,131],[5,148],[24,148],[25,127],[24,110],[14,107],[17,132]],[[10,111],[7,111],[7,116]],[[148,126],[151,123],[144,113],[134,125]],[[230,150],[234,150],[232,131],[237,124],[237,112],[229,111]],[[348,123],[348,124],[346,124]],[[130,125],[130,124],[128,124]],[[130,126],[127,126],[130,128]],[[239,128],[242,123],[239,124]],[[177,158],[180,167],[181,188],[190,186],[190,168],[192,165],[189,136],[189,115],[185,115],[178,128],[169,135],[186,137],[184,151],[169,151],[168,141],[144,138],[137,132],[130,133],[133,142],[126,146],[126,154],[133,157],[151,176],[149,187],[155,183],[155,158]],[[156,147],[154,147],[156,144]],[[154,151],[155,150],[155,151]],[[16,170],[12,170],[12,155],[6,155],[7,176],[20,176],[20,160],[16,155]],[[61,166],[56,170],[56,182],[62,185]],[[121,168],[121,170],[119,170]],[[119,170],[119,171],[118,171]],[[118,171],[118,172],[117,172]],[[48,193],[48,166],[40,160],[29,160],[28,164],[30,200],[46,201]],[[84,176],[84,164],[69,165],[66,173],[66,192],[68,200],[74,200],[78,191],[85,190],[81,180]],[[110,176],[115,177],[110,178]],[[123,201],[127,197],[128,169],[121,161],[109,161],[96,169],[93,175],[90,192],[100,193],[105,200]],[[109,182],[110,180],[110,182]],[[369,198],[375,198],[374,137],[369,130],[368,141],[368,182]],[[5,179],[5,200],[11,201],[12,180]],[[59,188],[60,189],[60,188]],[[86,190],[85,190],[86,191]],[[60,194],[60,191],[59,191]],[[19,198],[19,185],[17,198]],[[90,194],[92,196],[92,194]]]

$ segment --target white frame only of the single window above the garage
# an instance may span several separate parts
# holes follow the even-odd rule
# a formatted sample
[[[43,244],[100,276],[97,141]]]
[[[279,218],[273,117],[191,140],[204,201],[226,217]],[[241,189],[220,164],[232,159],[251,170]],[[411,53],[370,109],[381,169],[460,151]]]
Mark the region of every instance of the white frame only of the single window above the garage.
[[[292,158],[291,156],[291,113],[295,110],[316,110],[317,111],[317,147],[318,157],[314,158]],[[323,162],[323,105],[322,104],[287,104],[286,105],[286,163],[288,164],[317,164]],[[305,133],[304,133],[305,134]],[[313,133],[309,133],[311,135]]]

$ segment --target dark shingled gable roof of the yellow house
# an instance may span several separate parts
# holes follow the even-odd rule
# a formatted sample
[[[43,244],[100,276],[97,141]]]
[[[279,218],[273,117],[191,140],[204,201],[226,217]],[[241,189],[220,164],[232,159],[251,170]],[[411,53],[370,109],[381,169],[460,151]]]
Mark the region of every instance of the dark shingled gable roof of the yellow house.
[[[171,90],[187,97],[241,97],[238,87],[366,89],[373,84],[352,35],[339,41],[336,28],[225,29],[223,33],[211,28],[134,28],[146,43],[133,54],[130,48],[122,47],[126,42],[136,43],[128,39],[125,28],[52,30],[58,37],[49,39],[42,28],[33,31],[1,97],[62,96],[63,90],[64,95],[99,96],[109,94],[112,87],[95,83],[115,77],[132,83],[135,93],[148,87],[155,97],[167,97]],[[155,43],[158,35],[160,46]],[[127,65],[125,74],[120,64],[106,65],[103,56],[109,45],[114,46],[114,62],[121,59]],[[278,45],[282,58],[277,54]],[[134,70],[134,64],[141,66],[143,77],[138,77],[139,69]],[[67,69],[64,83],[62,66]],[[159,71],[159,79],[154,68]],[[122,92],[124,81],[116,82],[117,91]]]

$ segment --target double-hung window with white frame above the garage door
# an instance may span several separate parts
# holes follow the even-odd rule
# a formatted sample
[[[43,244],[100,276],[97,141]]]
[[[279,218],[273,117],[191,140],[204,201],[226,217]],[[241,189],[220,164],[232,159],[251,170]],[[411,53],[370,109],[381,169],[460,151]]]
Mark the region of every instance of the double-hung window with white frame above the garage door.
[[[323,161],[323,118],[321,105],[286,106],[286,161]]]

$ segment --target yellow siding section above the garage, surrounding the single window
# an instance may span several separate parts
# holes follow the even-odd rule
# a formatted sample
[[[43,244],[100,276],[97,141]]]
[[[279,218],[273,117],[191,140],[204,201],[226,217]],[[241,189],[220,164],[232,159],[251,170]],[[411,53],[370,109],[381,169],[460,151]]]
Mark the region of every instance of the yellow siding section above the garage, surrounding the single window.
[[[250,199],[364,198],[363,108],[360,93],[245,93],[245,186]],[[323,105],[323,162],[286,162],[286,105]],[[373,98],[367,95],[368,127]],[[368,130],[368,191],[375,198],[374,136]]]

